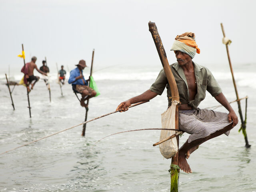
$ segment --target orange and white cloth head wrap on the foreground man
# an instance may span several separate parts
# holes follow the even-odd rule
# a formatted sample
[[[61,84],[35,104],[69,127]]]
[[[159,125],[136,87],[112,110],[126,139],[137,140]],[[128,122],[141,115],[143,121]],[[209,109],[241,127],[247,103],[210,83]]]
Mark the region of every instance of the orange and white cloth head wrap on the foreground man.
[[[195,41],[195,34],[192,32],[186,32],[181,35],[177,35],[171,51],[181,51],[192,58],[194,58],[196,53],[200,54],[200,49]]]

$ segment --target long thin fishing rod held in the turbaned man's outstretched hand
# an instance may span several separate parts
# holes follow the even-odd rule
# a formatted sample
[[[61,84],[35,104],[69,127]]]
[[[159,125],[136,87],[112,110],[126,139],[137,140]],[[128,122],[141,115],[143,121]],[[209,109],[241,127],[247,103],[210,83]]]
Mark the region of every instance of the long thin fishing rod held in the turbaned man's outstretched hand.
[[[144,101],[144,102],[139,102],[139,103],[137,103],[137,104],[133,104],[133,105],[127,107],[127,108],[132,108],[132,107],[138,106],[138,105],[140,105],[140,104],[144,104],[144,103],[146,103],[146,102],[149,102],[149,100]],[[94,121],[94,120],[96,120],[96,119],[99,119],[99,118],[102,118],[102,117],[105,117],[105,116],[114,114],[114,113],[116,113],[116,112],[120,112],[120,111],[122,111],[122,109],[117,110],[117,111],[113,111],[113,112],[110,112],[110,113],[107,113],[107,114],[104,114],[104,115],[102,115],[102,116],[98,116],[98,117],[93,118],[93,119],[91,119],[91,120],[88,120],[88,121],[86,121],[86,122],[82,122],[82,123],[80,123],[80,124],[78,124],[78,125],[72,126],[72,127],[70,127],[70,128],[66,128],[66,129],[64,129],[64,130],[55,132],[55,133],[53,133],[53,134],[50,134],[50,135],[48,135],[48,136],[42,137],[42,138],[40,138],[40,139],[31,141],[31,142],[28,142],[28,143],[26,143],[26,144],[24,144],[24,145],[18,146],[18,147],[16,147],[16,148],[13,148],[13,149],[8,150],[8,151],[6,151],[6,152],[0,153],[0,155],[5,154],[5,153],[8,153],[8,152],[13,151],[13,150],[16,150],[16,149],[18,149],[18,148],[27,146],[27,145],[29,145],[29,144],[32,144],[32,143],[34,143],[34,142],[37,142],[37,141],[40,141],[40,140],[42,140],[42,139],[48,138],[48,137],[50,137],[50,136],[56,135],[56,134],[58,134],[58,133],[64,132],[64,131],[66,131],[66,130],[70,130],[70,129],[75,128],[75,127],[77,127],[77,126],[80,126],[80,125],[86,124],[86,123],[88,123],[88,122]]]

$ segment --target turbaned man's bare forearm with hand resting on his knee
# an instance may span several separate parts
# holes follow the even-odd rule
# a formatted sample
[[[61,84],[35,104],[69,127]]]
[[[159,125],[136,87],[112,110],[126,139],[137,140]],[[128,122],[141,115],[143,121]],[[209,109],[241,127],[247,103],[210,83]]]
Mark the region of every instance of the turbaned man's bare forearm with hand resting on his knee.
[[[228,100],[226,99],[224,94],[220,93],[214,98],[228,110],[228,121],[231,122],[231,120],[233,120],[232,127],[236,126],[238,124],[238,117],[236,116],[236,113],[234,112],[233,108],[228,103]]]

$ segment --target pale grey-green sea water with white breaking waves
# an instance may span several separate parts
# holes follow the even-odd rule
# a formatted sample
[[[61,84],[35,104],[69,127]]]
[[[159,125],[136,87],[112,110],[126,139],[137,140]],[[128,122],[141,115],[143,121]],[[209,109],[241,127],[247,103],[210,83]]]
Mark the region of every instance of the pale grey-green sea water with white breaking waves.
[[[226,98],[236,100],[228,68],[208,68]],[[121,68],[95,72],[101,95],[90,100],[88,119],[112,112],[120,102],[146,91],[160,69],[161,66],[146,70],[136,66],[127,68],[125,73]],[[247,134],[251,148],[244,147],[243,135],[238,133],[240,124],[232,129],[230,136],[205,142],[188,160],[193,173],[180,172],[179,191],[256,192],[255,69],[255,64],[234,66],[239,96],[249,96]],[[22,74],[10,76],[11,80],[20,80]],[[50,74],[52,102],[42,80],[30,92],[32,118],[25,87],[14,88],[16,109],[13,110],[4,74],[0,74],[0,82],[0,153],[84,121],[85,110],[71,86],[65,84],[61,96],[54,72]],[[216,105],[218,102],[207,94],[199,107]],[[245,100],[241,105],[244,114]],[[236,103],[232,107],[238,112]],[[165,90],[161,96],[127,112],[89,122],[85,137],[81,136],[82,126],[78,126],[0,155],[0,191],[168,192],[170,160],[163,159],[158,146],[152,146],[159,141],[160,130],[117,134],[97,142],[115,132],[160,128],[160,114],[166,108]],[[223,107],[216,110],[226,111]],[[188,134],[180,138],[180,146],[187,138]]]

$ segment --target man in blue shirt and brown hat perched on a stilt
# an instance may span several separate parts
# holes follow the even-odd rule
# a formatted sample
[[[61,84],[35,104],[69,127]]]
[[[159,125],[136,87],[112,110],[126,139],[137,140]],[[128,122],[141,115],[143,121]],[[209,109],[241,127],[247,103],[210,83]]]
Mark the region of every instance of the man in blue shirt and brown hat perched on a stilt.
[[[88,86],[88,80],[84,79],[83,69],[86,66],[85,60],[80,60],[76,65],[77,68],[70,71],[70,77],[68,79],[68,83],[72,84],[72,89],[76,93],[80,93],[82,98],[80,100],[80,104],[82,107],[88,107],[87,104],[84,103],[86,99],[92,98],[96,96],[96,91]]]

